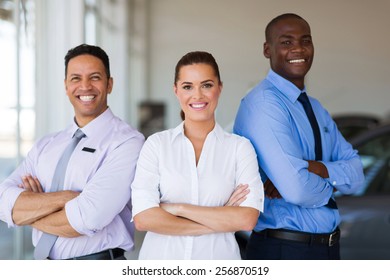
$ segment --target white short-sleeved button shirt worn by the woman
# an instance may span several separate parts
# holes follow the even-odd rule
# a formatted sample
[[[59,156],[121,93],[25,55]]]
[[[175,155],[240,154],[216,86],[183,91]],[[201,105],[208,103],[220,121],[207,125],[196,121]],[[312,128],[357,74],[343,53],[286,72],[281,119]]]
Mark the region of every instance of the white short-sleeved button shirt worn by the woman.
[[[223,206],[240,183],[250,193],[241,206],[263,210],[264,191],[250,142],[216,124],[195,152],[183,123],[150,136],[143,146],[132,184],[133,216],[161,203]],[[171,236],[147,232],[140,259],[240,259],[234,232]]]

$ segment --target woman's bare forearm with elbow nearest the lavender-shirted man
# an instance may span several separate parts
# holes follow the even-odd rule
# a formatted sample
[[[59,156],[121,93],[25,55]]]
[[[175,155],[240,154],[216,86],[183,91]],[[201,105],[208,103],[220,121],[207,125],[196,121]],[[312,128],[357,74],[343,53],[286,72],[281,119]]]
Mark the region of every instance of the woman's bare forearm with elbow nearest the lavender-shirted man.
[[[203,235],[213,231],[194,221],[176,217],[160,207],[154,207],[135,215],[134,224],[139,231],[151,231],[166,235]]]

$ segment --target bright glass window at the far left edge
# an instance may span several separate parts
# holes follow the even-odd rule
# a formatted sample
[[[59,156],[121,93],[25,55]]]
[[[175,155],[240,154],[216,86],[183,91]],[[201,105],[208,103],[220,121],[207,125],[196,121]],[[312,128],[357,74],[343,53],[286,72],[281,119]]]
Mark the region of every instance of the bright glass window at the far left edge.
[[[34,141],[34,1],[0,0],[0,181]],[[0,259],[29,258],[31,229],[0,222]]]

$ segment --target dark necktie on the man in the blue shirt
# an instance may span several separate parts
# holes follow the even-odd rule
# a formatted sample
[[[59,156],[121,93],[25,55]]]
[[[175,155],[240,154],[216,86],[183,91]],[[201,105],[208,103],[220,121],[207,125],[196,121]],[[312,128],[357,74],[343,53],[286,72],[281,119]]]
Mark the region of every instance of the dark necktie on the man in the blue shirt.
[[[302,92],[299,95],[298,101],[302,103],[303,109],[305,110],[305,113],[307,115],[307,118],[309,119],[311,128],[313,130],[316,161],[322,160],[321,132],[320,132],[320,128],[318,127],[318,122],[317,122],[316,116],[314,115],[313,108],[311,107],[311,104],[310,104],[309,98],[307,97],[306,92]],[[332,209],[337,209],[336,201],[332,197],[329,199],[328,204],[325,206],[332,208]]]

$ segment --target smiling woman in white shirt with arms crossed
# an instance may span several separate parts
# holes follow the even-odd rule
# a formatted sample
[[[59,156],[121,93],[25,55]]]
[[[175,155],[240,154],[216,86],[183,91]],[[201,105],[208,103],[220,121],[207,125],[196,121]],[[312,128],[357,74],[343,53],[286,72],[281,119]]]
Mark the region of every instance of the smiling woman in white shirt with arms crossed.
[[[190,52],[175,70],[184,121],[147,139],[132,184],[134,223],[147,231],[139,258],[240,259],[234,232],[252,230],[263,210],[256,153],[215,121],[214,57]]]

